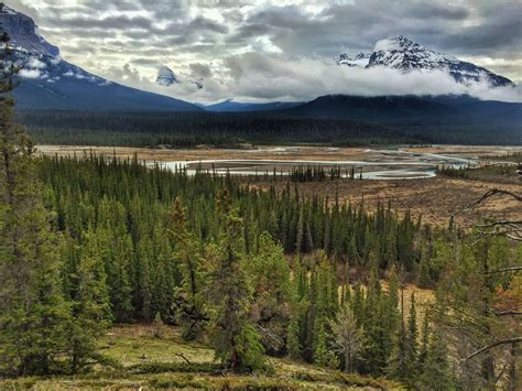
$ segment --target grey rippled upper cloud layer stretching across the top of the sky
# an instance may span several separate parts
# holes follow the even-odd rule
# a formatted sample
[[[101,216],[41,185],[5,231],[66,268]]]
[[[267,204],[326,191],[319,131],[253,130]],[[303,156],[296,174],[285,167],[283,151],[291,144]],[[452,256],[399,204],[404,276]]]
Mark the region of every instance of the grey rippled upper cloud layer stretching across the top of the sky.
[[[135,39],[143,30],[151,39],[171,44],[192,40],[213,42],[211,34],[227,35],[226,42],[248,45],[269,36],[289,55],[331,57],[339,50],[370,50],[374,42],[396,34],[411,35],[426,46],[454,54],[513,57],[522,42],[522,6],[519,1],[315,1],[287,4],[282,1],[205,0],[30,0],[12,1],[37,19],[45,29],[105,29]],[[286,6],[284,6],[286,3]],[[316,14],[307,4],[323,4]],[[264,6],[263,6],[264,4]],[[250,7],[252,10],[244,11]],[[194,10],[211,11],[211,20]],[[107,12],[109,14],[107,14]],[[118,14],[110,14],[117,12]],[[217,48],[221,52],[221,47]],[[194,54],[197,56],[197,53]]]

